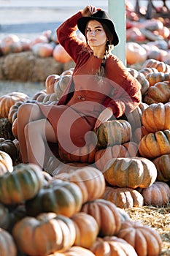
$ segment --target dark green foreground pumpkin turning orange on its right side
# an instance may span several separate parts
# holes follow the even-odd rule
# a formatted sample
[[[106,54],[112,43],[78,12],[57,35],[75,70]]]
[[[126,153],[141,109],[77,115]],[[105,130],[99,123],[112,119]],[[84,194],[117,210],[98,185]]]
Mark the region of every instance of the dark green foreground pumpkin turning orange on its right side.
[[[71,217],[82,207],[82,192],[73,182],[52,179],[40,189],[31,200],[26,201],[28,215],[36,216],[42,212],[54,212]]]

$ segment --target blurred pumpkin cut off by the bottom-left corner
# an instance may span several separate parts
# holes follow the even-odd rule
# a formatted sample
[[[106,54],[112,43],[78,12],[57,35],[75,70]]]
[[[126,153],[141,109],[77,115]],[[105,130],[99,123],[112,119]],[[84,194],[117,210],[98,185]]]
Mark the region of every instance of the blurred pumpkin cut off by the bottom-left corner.
[[[1,256],[17,256],[17,246],[12,235],[0,228],[0,254]]]

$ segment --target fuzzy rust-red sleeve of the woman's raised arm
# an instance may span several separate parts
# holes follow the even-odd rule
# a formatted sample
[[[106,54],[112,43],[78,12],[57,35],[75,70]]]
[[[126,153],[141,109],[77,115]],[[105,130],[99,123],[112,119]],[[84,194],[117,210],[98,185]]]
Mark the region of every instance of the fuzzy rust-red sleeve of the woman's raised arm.
[[[64,21],[58,27],[56,33],[58,42],[63,46],[75,63],[80,59],[80,53],[85,48],[85,42],[77,37],[77,20],[82,17],[81,12],[77,12],[71,18]]]

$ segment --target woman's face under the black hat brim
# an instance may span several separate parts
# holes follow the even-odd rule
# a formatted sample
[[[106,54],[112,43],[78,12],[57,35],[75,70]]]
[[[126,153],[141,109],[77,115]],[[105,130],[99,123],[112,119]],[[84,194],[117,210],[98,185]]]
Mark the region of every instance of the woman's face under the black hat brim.
[[[107,43],[107,35],[97,20],[90,20],[86,27],[86,38],[90,48],[102,47]]]

